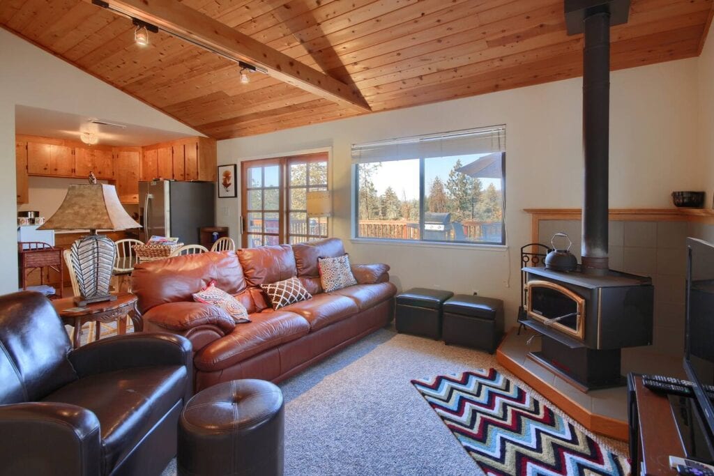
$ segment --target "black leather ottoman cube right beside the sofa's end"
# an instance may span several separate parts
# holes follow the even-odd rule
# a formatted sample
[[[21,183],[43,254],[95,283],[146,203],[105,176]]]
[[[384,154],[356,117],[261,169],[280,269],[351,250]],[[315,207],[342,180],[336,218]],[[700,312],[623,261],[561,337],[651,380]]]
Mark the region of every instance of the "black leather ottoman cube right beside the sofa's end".
[[[411,288],[396,297],[395,325],[398,333],[438,340],[441,336],[441,305],[451,291]]]

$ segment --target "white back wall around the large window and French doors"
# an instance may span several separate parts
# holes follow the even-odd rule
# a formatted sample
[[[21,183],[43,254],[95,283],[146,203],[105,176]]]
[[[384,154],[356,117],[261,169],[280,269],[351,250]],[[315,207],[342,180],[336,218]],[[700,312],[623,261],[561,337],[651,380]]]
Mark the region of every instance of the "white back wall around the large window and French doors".
[[[698,173],[697,61],[615,71],[611,78],[610,206],[668,207],[673,190],[692,188]],[[581,79],[501,91],[427,106],[218,142],[218,163],[236,163],[308,148],[331,147],[335,217],[356,263],[391,265],[401,288],[443,288],[506,300],[515,322],[519,248],[531,241],[523,208],[580,207],[583,195]],[[351,242],[352,143],[506,124],[508,249]],[[239,199],[219,199],[220,225],[237,230]]]

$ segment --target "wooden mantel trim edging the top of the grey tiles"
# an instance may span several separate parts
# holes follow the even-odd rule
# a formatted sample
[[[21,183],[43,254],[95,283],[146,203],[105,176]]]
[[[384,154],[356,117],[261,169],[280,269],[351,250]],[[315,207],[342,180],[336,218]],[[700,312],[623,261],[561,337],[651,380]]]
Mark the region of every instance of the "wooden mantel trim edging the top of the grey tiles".
[[[541,220],[580,220],[581,208],[523,208],[531,214],[531,238],[538,241]],[[611,221],[691,221],[714,225],[710,208],[610,208]]]

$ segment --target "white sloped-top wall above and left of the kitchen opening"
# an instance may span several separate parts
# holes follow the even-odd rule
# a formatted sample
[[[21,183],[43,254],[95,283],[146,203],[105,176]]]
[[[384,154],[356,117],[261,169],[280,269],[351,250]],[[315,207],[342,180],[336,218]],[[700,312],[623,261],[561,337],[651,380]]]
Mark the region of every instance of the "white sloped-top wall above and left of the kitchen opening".
[[[0,29],[0,293],[17,289],[15,106],[111,118],[137,126],[200,135],[65,61]]]

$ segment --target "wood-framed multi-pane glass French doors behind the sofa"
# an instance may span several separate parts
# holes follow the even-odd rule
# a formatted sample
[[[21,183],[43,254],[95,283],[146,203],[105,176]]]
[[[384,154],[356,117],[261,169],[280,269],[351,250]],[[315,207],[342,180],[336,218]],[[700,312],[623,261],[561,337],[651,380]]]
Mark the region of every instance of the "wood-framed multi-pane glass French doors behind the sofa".
[[[327,154],[241,163],[241,246],[327,238],[327,218],[307,215],[307,193],[327,190]]]

